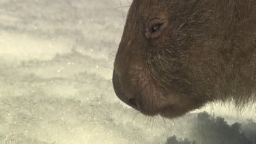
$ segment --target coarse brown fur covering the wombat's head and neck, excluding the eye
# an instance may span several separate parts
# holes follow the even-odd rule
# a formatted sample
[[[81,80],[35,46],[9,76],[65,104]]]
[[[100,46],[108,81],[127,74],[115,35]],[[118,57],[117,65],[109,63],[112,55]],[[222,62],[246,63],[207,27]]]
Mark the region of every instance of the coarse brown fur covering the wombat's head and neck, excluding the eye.
[[[158,38],[147,19],[167,18]],[[255,102],[255,0],[134,0],[117,51],[117,96],[145,115],[177,117],[208,102]],[[129,102],[133,100],[133,102]]]

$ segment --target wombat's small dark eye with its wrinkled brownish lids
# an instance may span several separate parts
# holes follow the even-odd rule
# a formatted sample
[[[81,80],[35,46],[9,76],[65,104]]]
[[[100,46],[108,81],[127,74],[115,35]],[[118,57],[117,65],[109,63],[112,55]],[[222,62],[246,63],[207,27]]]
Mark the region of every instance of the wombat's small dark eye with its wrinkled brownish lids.
[[[145,37],[158,38],[166,31],[168,27],[168,20],[165,18],[153,18],[147,22],[145,27]]]

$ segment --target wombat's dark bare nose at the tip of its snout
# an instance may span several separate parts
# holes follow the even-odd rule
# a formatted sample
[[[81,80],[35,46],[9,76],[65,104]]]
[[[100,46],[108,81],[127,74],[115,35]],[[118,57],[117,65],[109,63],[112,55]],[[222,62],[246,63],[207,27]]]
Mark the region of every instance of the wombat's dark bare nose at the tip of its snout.
[[[122,102],[128,104],[129,106],[132,106],[132,108],[138,109],[137,98],[130,98],[129,96],[126,95],[120,83],[120,76],[115,72],[115,70],[113,71],[112,81],[113,81],[115,94],[117,95],[117,97],[120,100],[122,100]]]

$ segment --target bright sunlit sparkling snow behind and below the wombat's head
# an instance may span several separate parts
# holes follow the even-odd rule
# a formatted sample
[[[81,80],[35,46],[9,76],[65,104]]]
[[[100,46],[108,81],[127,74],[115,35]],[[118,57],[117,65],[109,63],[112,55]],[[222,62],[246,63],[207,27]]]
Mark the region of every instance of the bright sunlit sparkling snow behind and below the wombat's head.
[[[119,0],[0,0],[0,143],[165,143],[186,136],[189,115],[137,115],[107,81],[128,10],[123,17],[119,7]],[[201,111],[231,122],[256,117],[231,109]]]

